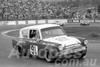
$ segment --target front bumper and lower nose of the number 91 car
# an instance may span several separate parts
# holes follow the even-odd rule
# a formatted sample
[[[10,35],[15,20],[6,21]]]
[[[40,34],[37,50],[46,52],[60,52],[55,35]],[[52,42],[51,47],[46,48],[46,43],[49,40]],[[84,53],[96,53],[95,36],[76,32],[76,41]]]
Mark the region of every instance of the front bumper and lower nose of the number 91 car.
[[[82,58],[86,55],[87,48],[79,47],[76,49],[66,49],[58,53],[58,58]]]

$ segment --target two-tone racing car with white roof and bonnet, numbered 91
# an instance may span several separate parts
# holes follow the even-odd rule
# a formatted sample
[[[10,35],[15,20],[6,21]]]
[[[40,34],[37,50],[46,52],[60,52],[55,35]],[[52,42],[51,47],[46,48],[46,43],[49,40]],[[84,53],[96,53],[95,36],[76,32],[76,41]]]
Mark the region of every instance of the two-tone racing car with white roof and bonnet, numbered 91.
[[[85,58],[87,42],[82,37],[67,36],[63,28],[56,24],[22,28],[19,38],[12,39],[13,46],[17,45],[19,48],[20,56],[28,54],[48,62],[57,58]]]

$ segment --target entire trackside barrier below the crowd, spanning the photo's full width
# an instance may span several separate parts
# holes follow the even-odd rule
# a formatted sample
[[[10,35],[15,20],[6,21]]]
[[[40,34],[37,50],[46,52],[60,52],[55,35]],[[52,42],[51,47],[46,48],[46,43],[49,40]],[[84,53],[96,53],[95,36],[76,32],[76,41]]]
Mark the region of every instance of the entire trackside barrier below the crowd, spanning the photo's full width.
[[[84,20],[78,19],[51,19],[51,20],[19,20],[19,21],[0,21],[0,25],[32,25],[32,24],[47,24],[47,23],[80,23]],[[88,22],[100,22],[100,20],[89,20]]]

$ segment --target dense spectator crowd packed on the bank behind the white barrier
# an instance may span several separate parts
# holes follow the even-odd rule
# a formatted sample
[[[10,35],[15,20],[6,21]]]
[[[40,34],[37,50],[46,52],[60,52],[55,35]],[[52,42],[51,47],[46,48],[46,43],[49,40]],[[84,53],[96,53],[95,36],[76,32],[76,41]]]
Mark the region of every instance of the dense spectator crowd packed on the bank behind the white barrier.
[[[39,0],[0,0],[0,20],[77,18],[79,13],[62,3]]]

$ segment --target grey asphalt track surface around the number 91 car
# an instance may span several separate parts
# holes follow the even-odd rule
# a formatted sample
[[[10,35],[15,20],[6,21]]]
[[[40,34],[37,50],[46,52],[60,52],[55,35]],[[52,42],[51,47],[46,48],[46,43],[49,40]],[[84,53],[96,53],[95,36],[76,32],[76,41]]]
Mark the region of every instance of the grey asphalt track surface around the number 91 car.
[[[69,23],[65,26],[80,26],[78,23]],[[100,26],[100,23],[91,23],[90,26]],[[0,67],[72,67],[68,65],[59,64],[56,65],[55,63],[47,63],[45,60],[42,59],[24,59],[24,58],[16,58],[12,57],[8,59],[8,55],[12,49],[12,42],[11,37],[7,37],[2,35],[3,31],[13,30],[13,29],[20,29],[25,27],[23,25],[20,26],[0,26]],[[88,51],[87,51],[87,61],[81,62],[73,67],[100,67],[100,42],[95,43],[89,41],[88,43]],[[91,65],[91,63],[94,63]]]

